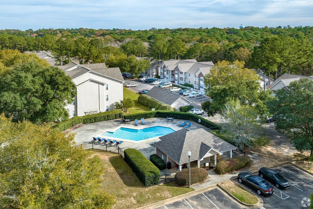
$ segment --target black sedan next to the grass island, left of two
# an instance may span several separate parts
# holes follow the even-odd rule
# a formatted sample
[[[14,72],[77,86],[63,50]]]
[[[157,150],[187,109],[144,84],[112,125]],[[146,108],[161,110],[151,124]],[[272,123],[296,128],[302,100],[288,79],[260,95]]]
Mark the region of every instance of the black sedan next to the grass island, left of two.
[[[266,180],[262,179],[258,175],[251,175],[247,172],[239,173],[237,176],[239,183],[243,183],[255,190],[259,195],[263,194],[269,196],[273,194],[274,187],[270,185]]]

